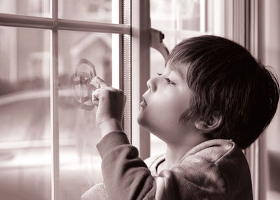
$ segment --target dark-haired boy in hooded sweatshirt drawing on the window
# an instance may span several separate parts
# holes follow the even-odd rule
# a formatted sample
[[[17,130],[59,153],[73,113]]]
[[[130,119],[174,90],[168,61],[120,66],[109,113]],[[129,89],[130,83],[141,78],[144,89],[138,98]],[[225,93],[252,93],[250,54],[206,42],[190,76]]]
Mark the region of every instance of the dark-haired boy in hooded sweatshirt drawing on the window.
[[[165,72],[147,82],[138,122],[167,143],[161,156],[139,158],[123,133],[123,91],[96,78],[106,187],[84,199],[253,199],[241,151],[272,120],[279,100],[275,76],[245,48],[218,36],[178,44]]]

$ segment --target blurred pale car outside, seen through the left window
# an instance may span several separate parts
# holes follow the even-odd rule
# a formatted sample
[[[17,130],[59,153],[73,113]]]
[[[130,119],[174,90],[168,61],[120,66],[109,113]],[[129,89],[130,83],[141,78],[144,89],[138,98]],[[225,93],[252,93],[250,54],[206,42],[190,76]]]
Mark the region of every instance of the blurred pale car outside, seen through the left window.
[[[59,199],[80,199],[101,182],[94,114],[59,88]],[[0,199],[51,199],[50,91],[0,95]]]

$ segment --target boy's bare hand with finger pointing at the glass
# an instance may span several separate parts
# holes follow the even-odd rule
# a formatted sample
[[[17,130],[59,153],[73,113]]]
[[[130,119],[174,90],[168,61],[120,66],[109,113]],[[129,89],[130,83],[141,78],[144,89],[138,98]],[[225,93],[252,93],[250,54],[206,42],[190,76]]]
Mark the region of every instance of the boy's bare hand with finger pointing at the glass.
[[[100,88],[92,93],[92,103],[97,105],[96,122],[102,136],[111,131],[123,131],[123,111],[126,97],[122,90],[112,88],[98,76],[95,81]]]

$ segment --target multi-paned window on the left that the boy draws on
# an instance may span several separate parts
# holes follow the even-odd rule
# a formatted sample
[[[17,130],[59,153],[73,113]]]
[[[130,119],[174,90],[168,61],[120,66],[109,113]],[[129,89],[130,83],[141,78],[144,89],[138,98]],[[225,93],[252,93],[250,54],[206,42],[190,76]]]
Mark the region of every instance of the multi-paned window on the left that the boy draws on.
[[[80,59],[127,94],[130,1],[0,0],[0,187],[4,199],[80,199],[102,181],[93,112],[69,80]],[[130,138],[130,117],[125,117]],[[3,193],[2,193],[3,192]]]

